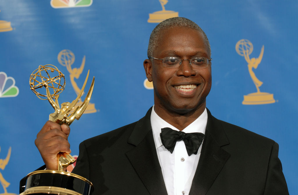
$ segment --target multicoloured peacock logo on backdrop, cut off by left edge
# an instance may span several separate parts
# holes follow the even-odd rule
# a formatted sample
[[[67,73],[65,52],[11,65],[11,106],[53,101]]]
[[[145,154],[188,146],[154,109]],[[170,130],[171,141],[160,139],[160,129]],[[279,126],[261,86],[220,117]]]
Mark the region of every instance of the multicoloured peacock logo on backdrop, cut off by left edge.
[[[18,95],[15,79],[7,77],[5,72],[0,72],[0,97],[15,97]]]

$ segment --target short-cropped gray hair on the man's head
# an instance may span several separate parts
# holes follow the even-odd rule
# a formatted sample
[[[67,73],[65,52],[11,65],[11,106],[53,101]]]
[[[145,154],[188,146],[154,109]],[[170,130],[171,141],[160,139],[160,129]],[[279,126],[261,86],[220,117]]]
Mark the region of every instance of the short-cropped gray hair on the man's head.
[[[193,21],[191,21],[187,18],[175,17],[175,18],[169,18],[169,19],[162,21],[161,23],[157,24],[157,26],[153,29],[153,31],[150,35],[150,38],[149,38],[148,51],[147,51],[148,58],[153,57],[152,56],[153,51],[156,48],[156,46],[158,45],[158,43],[157,43],[158,38],[159,38],[162,30],[168,29],[171,27],[186,27],[186,28],[191,28],[191,29],[198,30],[199,32],[201,32],[204,35],[205,43],[207,44],[207,47],[208,47],[208,52],[211,55],[211,48],[210,48],[210,44],[209,44],[207,35],[198,26],[198,24],[195,24]]]

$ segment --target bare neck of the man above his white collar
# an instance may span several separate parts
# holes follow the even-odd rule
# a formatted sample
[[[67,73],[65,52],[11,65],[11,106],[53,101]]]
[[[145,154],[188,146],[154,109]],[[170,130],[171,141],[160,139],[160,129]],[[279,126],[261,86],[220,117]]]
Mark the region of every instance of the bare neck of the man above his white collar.
[[[197,109],[190,111],[167,110],[165,108],[157,106],[154,106],[154,111],[167,123],[170,123],[177,129],[182,131],[193,121],[195,121],[199,116],[201,116],[205,108],[206,102],[202,103]]]

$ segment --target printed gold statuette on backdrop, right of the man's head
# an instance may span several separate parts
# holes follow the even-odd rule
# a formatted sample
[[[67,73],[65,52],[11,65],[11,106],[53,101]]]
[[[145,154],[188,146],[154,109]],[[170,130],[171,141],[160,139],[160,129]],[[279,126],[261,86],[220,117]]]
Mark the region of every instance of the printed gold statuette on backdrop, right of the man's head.
[[[273,98],[273,94],[260,92],[259,87],[263,84],[263,82],[260,81],[252,71],[252,68],[257,69],[260,62],[262,61],[263,53],[264,53],[264,45],[262,46],[262,49],[258,58],[249,58],[249,55],[252,53],[252,50],[253,50],[253,45],[247,39],[239,40],[235,48],[236,48],[236,52],[239,55],[244,56],[246,62],[248,63],[247,66],[248,66],[249,74],[252,78],[252,81],[254,82],[254,85],[257,88],[257,92],[244,95],[244,100],[242,104],[256,105],[256,104],[274,103],[275,100]]]

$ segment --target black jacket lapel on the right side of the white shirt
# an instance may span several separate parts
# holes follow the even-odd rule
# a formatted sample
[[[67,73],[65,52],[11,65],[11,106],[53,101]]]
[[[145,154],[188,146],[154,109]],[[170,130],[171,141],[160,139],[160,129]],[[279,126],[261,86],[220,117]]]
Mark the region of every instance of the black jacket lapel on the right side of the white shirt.
[[[229,140],[218,119],[209,110],[205,139],[202,145],[198,167],[190,188],[190,195],[204,195],[207,193],[230,154],[221,146],[229,144]]]

